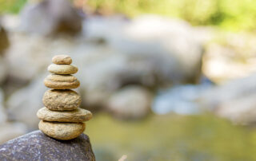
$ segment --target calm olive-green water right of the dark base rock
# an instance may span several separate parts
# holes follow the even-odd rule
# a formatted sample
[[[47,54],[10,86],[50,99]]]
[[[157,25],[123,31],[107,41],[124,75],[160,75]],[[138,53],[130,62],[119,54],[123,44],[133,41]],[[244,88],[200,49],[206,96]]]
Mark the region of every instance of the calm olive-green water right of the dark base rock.
[[[256,130],[209,114],[116,120],[100,113],[86,124],[98,161],[256,160]]]

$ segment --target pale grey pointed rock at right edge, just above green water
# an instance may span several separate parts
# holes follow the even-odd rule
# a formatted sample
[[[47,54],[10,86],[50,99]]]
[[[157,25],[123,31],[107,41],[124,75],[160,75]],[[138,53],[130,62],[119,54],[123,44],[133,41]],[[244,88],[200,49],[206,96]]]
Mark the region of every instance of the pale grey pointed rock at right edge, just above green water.
[[[209,88],[200,97],[202,107],[235,124],[256,122],[256,74]]]

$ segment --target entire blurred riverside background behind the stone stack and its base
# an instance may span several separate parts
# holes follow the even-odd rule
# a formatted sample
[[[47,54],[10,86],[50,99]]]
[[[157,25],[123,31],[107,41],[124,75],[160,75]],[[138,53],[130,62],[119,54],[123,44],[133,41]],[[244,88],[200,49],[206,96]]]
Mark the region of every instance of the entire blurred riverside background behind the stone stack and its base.
[[[0,0],[0,143],[78,66],[98,161],[256,159],[256,1]]]

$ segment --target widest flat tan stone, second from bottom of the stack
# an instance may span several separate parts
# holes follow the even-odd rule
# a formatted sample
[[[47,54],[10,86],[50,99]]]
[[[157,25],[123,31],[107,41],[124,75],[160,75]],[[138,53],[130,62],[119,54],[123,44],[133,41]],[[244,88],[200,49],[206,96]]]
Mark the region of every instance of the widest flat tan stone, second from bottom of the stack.
[[[90,111],[82,108],[77,108],[73,111],[50,111],[50,109],[44,107],[38,110],[37,116],[40,120],[56,121],[56,122],[84,122],[92,118]]]

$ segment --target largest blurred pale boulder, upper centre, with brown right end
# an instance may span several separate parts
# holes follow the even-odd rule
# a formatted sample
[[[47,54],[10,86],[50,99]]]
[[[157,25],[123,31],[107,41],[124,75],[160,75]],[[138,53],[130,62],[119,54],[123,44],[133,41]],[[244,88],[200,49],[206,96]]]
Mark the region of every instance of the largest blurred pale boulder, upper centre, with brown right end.
[[[89,39],[106,41],[132,60],[157,65],[154,69],[157,76],[164,78],[161,81],[197,81],[201,73],[203,40],[201,33],[187,22],[156,15],[130,21],[93,17],[84,24],[84,33]]]

